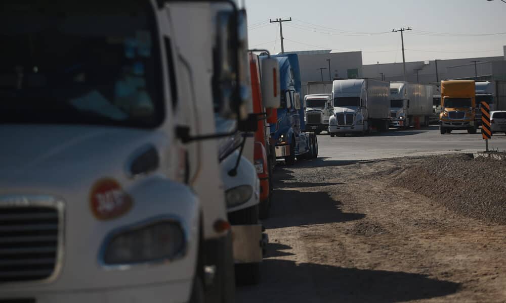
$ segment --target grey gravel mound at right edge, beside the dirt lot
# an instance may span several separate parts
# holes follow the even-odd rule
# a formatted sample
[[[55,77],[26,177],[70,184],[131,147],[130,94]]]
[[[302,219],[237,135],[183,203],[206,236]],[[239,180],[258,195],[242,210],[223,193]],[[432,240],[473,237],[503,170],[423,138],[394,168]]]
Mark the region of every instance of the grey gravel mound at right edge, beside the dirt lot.
[[[472,155],[430,157],[393,187],[425,195],[460,215],[506,224],[506,161]]]

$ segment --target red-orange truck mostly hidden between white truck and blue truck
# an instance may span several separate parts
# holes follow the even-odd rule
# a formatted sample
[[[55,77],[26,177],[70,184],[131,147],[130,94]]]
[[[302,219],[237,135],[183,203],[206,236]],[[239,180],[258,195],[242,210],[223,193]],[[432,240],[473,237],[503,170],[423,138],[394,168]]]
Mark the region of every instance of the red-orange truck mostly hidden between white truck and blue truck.
[[[255,167],[260,179],[260,218],[269,217],[272,196],[272,148],[270,148],[270,124],[276,123],[277,115],[275,109],[266,109],[262,95],[262,79],[260,60],[257,55],[249,53],[249,70],[251,76],[251,96],[253,100],[254,113],[258,115],[258,129],[255,132]],[[276,84],[275,84],[276,85]],[[279,83],[277,83],[279,87]],[[265,88],[264,88],[265,90]],[[274,88],[272,92],[275,92]],[[266,92],[264,92],[266,94]]]

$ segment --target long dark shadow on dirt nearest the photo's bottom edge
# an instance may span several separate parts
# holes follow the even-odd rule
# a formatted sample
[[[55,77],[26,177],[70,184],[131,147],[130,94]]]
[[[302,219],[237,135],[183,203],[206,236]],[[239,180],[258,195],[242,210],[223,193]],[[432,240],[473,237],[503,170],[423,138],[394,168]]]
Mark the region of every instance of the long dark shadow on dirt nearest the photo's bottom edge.
[[[400,302],[455,293],[460,284],[426,275],[264,260],[260,285],[241,287],[237,302]]]

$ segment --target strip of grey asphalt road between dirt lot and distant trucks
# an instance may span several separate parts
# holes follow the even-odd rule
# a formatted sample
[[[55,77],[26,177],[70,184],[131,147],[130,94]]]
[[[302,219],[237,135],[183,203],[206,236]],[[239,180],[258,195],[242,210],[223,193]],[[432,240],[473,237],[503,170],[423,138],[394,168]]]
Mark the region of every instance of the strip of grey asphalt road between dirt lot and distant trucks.
[[[331,138],[318,136],[319,158],[323,160],[373,160],[405,156],[426,156],[449,153],[475,153],[485,150],[481,132],[468,134],[456,130],[441,135],[438,126],[420,130],[390,130],[372,135],[346,135]],[[490,149],[506,150],[506,135],[496,133],[489,140]]]

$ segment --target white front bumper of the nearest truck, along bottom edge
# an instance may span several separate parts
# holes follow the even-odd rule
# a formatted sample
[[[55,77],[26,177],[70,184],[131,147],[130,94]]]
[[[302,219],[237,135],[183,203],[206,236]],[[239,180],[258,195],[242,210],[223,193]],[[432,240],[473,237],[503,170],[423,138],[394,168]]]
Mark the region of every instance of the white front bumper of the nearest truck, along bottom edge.
[[[78,273],[76,273],[78,274]],[[141,278],[141,277],[139,277]],[[19,303],[183,303],[189,300],[192,281],[173,281],[124,288],[87,289],[78,291],[0,292],[0,302]]]

